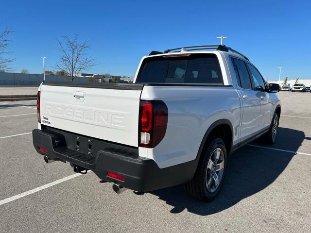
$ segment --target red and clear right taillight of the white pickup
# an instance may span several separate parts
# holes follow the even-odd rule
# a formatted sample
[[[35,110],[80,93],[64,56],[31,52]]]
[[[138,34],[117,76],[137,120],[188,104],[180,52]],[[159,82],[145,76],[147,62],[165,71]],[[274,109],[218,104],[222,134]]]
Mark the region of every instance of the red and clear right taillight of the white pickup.
[[[138,141],[140,147],[154,148],[163,139],[168,109],[162,100],[140,100]]]

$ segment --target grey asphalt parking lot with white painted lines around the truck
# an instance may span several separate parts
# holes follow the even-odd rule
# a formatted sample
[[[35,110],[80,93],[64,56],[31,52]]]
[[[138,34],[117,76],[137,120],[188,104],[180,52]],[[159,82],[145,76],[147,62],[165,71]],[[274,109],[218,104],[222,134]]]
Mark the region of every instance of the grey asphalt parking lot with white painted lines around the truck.
[[[35,100],[0,102],[0,232],[310,232],[311,93],[278,95],[276,144],[235,152],[210,203],[180,186],[117,195],[92,172],[47,165],[32,145]]]

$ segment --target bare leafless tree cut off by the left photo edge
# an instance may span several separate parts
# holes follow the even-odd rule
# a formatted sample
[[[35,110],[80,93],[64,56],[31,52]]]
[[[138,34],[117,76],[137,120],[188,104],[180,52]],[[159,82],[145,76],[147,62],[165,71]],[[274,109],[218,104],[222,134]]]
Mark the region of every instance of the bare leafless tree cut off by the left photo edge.
[[[9,71],[14,68],[11,67],[11,64],[15,61],[15,58],[7,57],[11,55],[9,42],[7,39],[7,35],[10,33],[14,33],[11,28],[5,28],[2,32],[0,32],[0,69]]]

